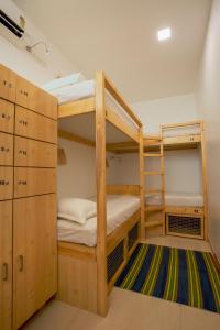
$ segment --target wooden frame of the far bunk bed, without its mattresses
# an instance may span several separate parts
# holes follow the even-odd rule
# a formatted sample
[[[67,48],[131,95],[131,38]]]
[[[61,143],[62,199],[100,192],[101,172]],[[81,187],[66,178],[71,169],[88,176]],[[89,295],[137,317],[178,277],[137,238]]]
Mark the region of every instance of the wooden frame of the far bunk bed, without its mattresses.
[[[177,134],[174,136],[164,136],[164,130],[176,130],[186,127],[195,127],[199,128],[199,132],[196,134]],[[163,151],[178,151],[178,150],[189,150],[200,147],[201,154],[201,172],[202,172],[202,196],[204,196],[204,206],[202,207],[183,207],[183,206],[172,206],[163,202],[162,206],[151,206],[148,205],[148,211],[145,217],[147,219],[144,220],[145,223],[148,223],[148,230],[154,231],[154,233],[158,233],[157,228],[163,226],[163,232],[172,235],[179,235],[186,238],[197,238],[197,239],[208,239],[208,201],[207,201],[207,158],[206,158],[206,141],[205,141],[205,122],[204,121],[191,121],[185,123],[176,123],[176,124],[163,124],[160,129],[160,135],[145,135],[144,136],[144,147],[145,152],[150,153],[151,156],[156,156],[161,151],[161,160],[162,160],[162,168],[161,174],[164,175],[165,166],[164,166],[164,152]],[[160,141],[163,143],[163,151],[160,146]],[[152,154],[151,154],[152,153]],[[147,155],[147,154],[146,154]],[[154,173],[153,173],[154,174]],[[155,173],[156,174],[156,173]],[[154,191],[153,191],[154,193]],[[165,180],[163,177],[162,190],[161,194],[163,196],[163,200],[165,200]],[[152,211],[151,211],[152,210]],[[163,215],[158,215],[158,212],[163,212]],[[191,218],[197,221],[198,226],[200,226],[200,233],[190,233],[187,232],[175,232],[172,231],[168,227],[168,217],[185,217]],[[160,219],[160,221],[158,221]],[[162,219],[162,220],[161,220]],[[179,218],[180,219],[180,218]],[[148,220],[148,222],[146,222]]]

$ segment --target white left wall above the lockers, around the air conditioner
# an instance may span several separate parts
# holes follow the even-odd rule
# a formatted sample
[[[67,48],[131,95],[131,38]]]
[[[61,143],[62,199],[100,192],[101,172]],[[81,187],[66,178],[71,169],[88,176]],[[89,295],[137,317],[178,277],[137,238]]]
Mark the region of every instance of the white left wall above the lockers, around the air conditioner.
[[[18,11],[18,7],[11,0],[1,0],[1,7],[12,12]],[[76,72],[75,65],[50,43],[46,36],[31,23],[25,14],[24,18],[26,20],[26,31],[30,34],[30,37],[25,38],[26,43],[34,44],[35,42],[44,41],[48,45],[50,54],[46,55],[44,47],[40,45],[34,51],[38,56],[36,58],[26,52],[25,45],[23,48],[18,48],[0,35],[0,63],[38,86],[52,80],[57,75]]]

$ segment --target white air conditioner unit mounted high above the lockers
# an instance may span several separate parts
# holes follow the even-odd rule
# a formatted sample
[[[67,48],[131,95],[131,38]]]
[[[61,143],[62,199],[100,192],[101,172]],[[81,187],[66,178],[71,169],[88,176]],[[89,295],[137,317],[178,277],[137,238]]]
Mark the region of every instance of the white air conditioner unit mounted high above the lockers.
[[[15,46],[24,46],[25,20],[11,1],[3,1],[0,8],[0,34]]]

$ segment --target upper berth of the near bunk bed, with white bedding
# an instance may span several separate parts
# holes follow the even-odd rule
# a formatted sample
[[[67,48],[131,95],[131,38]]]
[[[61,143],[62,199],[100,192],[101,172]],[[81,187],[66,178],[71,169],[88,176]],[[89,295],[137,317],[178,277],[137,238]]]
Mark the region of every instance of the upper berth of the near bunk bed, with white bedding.
[[[59,138],[95,147],[99,125],[96,114],[105,109],[107,151],[114,143],[133,143],[138,148],[142,123],[103,72],[98,72],[94,80],[63,88],[56,96]]]

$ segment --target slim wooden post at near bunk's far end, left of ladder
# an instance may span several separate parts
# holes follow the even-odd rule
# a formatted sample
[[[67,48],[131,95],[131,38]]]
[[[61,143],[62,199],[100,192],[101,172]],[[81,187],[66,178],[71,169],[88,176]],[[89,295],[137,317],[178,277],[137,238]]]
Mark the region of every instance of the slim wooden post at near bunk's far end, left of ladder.
[[[140,128],[140,194],[141,194],[141,240],[145,240],[145,191],[144,191],[144,145],[143,145],[143,128]]]

